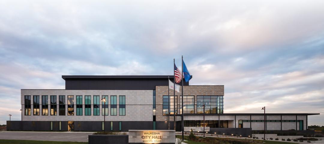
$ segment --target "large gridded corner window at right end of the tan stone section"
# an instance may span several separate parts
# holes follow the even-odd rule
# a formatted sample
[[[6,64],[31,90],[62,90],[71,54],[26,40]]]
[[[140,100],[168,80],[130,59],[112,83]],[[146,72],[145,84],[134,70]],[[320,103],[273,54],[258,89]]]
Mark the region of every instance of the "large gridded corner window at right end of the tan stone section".
[[[203,104],[207,114],[223,113],[223,96],[197,96],[197,113],[203,113]]]

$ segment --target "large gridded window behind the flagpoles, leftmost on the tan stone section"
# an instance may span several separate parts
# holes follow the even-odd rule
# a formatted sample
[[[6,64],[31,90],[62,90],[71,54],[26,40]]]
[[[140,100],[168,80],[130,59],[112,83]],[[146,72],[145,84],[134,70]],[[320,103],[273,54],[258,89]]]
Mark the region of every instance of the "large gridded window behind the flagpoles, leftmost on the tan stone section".
[[[163,96],[163,115],[165,115],[165,116],[168,115],[168,110],[169,110],[168,104],[170,104],[170,115],[173,115],[174,112],[177,114],[177,112],[178,112],[178,106],[177,106],[178,99],[177,98],[178,98],[177,96],[175,96],[175,97],[170,96],[170,102],[168,102],[169,101],[168,96]],[[174,101],[176,102],[176,104],[174,104]],[[174,105],[176,108],[174,108]],[[154,110],[155,109],[153,109],[153,112],[155,112]]]

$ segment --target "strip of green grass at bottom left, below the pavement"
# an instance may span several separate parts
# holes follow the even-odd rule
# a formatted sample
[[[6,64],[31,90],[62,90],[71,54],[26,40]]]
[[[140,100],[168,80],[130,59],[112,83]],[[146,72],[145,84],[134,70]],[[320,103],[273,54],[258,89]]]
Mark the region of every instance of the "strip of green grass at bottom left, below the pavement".
[[[88,144],[87,142],[0,139],[0,144]]]

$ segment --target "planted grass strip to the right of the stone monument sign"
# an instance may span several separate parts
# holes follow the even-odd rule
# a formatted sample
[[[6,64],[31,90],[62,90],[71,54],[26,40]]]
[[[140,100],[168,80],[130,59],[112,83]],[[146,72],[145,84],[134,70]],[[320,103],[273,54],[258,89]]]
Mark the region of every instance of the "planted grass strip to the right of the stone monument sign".
[[[181,136],[177,136],[177,138],[181,139]],[[283,142],[283,141],[269,141],[269,140],[257,140],[257,139],[231,139],[231,138],[213,138],[213,137],[197,137],[195,141],[191,141],[188,139],[188,136],[184,138],[185,143],[188,144],[212,144],[212,143],[226,143],[226,144],[292,144],[291,142]]]

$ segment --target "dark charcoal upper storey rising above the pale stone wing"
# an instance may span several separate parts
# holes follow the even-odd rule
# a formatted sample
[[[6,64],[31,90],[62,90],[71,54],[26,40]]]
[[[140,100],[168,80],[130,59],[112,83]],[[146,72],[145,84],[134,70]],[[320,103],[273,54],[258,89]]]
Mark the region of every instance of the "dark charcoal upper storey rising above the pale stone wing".
[[[173,76],[62,76],[65,89],[95,90],[154,90],[155,86],[168,86]],[[189,82],[183,83],[189,86]]]

